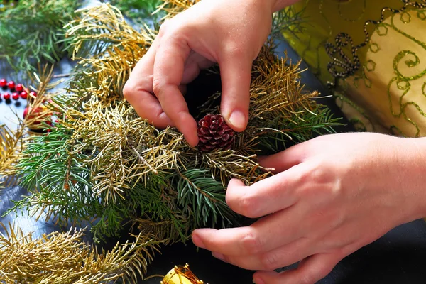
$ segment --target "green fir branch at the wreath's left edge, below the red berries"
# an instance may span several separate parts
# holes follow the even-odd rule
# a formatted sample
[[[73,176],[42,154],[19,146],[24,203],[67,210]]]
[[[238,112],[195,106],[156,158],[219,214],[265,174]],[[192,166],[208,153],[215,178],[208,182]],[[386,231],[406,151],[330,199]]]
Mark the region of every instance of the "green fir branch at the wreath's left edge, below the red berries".
[[[71,136],[70,131],[58,126],[27,144],[18,168],[20,185],[31,195],[15,202],[6,214],[26,208],[37,219],[46,212],[45,219],[56,219],[60,224],[92,221],[101,214],[102,205],[92,195],[90,172],[84,165],[87,155],[74,150],[78,145],[68,143]]]

